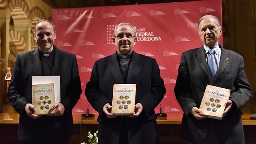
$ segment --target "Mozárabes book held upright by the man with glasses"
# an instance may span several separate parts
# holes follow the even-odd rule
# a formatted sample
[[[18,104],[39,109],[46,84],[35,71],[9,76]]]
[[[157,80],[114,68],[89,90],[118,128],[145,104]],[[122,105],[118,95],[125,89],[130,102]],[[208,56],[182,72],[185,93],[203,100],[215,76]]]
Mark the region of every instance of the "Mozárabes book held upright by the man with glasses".
[[[136,84],[114,84],[111,113],[124,116],[134,113]]]

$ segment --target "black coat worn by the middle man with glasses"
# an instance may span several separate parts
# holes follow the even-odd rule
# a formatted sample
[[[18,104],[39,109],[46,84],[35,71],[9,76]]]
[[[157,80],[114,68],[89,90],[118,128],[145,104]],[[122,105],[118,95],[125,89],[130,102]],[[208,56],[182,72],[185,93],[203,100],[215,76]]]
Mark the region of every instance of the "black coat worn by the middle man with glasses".
[[[118,137],[115,139],[116,141],[112,141],[112,137],[114,139],[114,135],[119,135],[119,132],[115,134],[116,130],[114,129],[118,129],[119,125],[121,125],[121,116],[107,118],[103,112],[105,104],[109,103],[112,105],[114,83],[123,83],[118,59],[115,53],[96,61],[92,69],[90,81],[85,89],[88,101],[99,112],[98,122],[100,125],[106,125],[103,135],[111,139],[105,142],[106,144],[118,142]],[[143,125],[148,120],[154,120],[155,123],[154,108],[161,102],[166,92],[156,60],[133,52],[130,59],[127,84],[137,84],[135,104],[141,103],[143,106],[143,111],[137,118],[127,118],[128,129],[130,130],[128,134],[129,142],[135,142],[136,144],[149,142],[148,144],[155,144],[156,142],[154,140],[150,141],[150,139],[157,137],[156,125],[150,125],[149,127],[143,127]],[[111,125],[114,126],[111,127]],[[143,132],[145,133],[143,134]],[[152,133],[152,137],[149,137],[148,133]],[[104,143],[103,140],[100,142],[101,144]]]

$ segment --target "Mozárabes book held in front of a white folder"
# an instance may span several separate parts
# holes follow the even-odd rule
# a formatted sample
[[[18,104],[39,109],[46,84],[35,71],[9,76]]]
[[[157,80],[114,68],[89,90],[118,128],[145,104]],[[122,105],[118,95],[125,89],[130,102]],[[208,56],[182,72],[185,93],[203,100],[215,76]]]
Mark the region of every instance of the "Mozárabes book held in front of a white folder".
[[[55,104],[54,84],[32,85],[32,104],[35,106],[35,115],[46,115],[50,113]]]

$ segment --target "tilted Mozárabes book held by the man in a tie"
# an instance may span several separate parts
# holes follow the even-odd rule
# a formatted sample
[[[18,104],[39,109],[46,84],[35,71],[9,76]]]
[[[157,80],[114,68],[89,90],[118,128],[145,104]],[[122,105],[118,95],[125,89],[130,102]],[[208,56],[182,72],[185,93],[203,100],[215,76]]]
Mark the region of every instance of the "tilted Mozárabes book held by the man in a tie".
[[[228,101],[229,96],[229,89],[207,85],[199,108],[201,110],[199,115],[221,120],[226,107],[225,102]]]

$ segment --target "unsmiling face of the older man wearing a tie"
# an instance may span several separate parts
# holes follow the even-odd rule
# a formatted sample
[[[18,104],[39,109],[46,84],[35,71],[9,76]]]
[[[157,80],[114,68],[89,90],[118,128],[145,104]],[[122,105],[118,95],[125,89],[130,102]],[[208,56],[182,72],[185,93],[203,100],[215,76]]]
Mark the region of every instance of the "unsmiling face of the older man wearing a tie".
[[[216,19],[213,17],[206,17],[200,22],[198,30],[199,36],[204,42],[204,45],[209,48],[213,48],[217,45],[222,28],[217,25]]]

